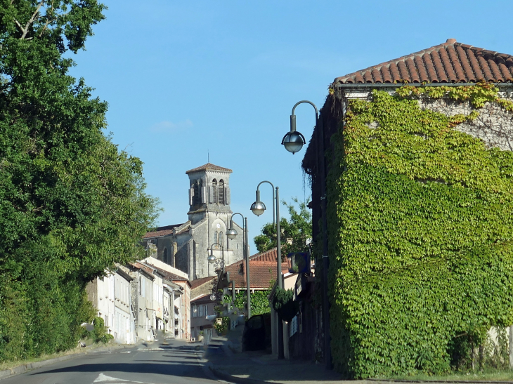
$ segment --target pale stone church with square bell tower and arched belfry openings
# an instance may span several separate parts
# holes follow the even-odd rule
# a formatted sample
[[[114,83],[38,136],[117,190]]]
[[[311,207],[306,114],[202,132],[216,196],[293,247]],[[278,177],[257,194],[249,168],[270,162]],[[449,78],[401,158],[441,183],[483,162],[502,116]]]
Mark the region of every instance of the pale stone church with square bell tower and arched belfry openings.
[[[143,244],[153,254],[173,267],[188,274],[189,280],[216,276],[216,270],[242,260],[242,227],[233,227],[238,236],[230,240],[226,230],[230,226],[230,173],[231,169],[204,164],[186,172],[189,177],[188,221],[182,224],[158,227],[148,232]],[[216,263],[207,261],[210,253]]]

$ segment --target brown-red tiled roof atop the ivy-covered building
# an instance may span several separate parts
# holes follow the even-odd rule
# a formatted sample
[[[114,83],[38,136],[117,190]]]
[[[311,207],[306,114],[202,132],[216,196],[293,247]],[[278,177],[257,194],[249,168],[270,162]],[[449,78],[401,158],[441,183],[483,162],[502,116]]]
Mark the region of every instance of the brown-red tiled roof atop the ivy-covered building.
[[[513,56],[483,48],[446,43],[337,77],[334,84],[476,83],[513,81]]]

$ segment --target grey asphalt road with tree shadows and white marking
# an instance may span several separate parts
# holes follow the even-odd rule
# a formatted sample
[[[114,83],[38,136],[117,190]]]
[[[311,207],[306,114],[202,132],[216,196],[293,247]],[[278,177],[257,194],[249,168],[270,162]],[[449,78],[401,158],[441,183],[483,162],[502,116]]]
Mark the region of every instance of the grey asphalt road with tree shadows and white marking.
[[[98,352],[0,380],[0,384],[208,384],[202,345],[165,340],[114,352]]]

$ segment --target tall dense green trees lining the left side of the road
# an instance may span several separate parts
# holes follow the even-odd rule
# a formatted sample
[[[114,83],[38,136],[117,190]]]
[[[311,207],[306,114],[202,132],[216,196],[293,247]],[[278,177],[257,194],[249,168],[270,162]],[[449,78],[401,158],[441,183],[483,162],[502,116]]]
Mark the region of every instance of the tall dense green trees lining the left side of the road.
[[[85,284],[134,260],[157,216],[141,160],[103,134],[107,103],[67,74],[104,9],[0,0],[0,361],[73,347]]]

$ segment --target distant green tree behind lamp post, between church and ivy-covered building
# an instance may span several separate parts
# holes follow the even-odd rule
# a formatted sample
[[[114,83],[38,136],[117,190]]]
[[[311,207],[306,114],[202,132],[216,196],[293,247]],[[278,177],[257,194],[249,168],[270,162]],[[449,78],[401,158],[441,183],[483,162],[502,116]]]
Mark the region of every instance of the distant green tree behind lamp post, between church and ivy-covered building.
[[[290,252],[308,252],[309,239],[312,238],[312,215],[307,207],[308,202],[301,202],[294,197],[295,204],[282,201],[290,214],[290,220],[280,218],[282,255]],[[299,206],[299,211],[296,208]],[[261,234],[254,237],[254,243],[259,252],[265,252],[276,246],[276,227],[273,223],[267,223],[262,227]],[[287,244],[287,239],[292,239],[292,244]]]

